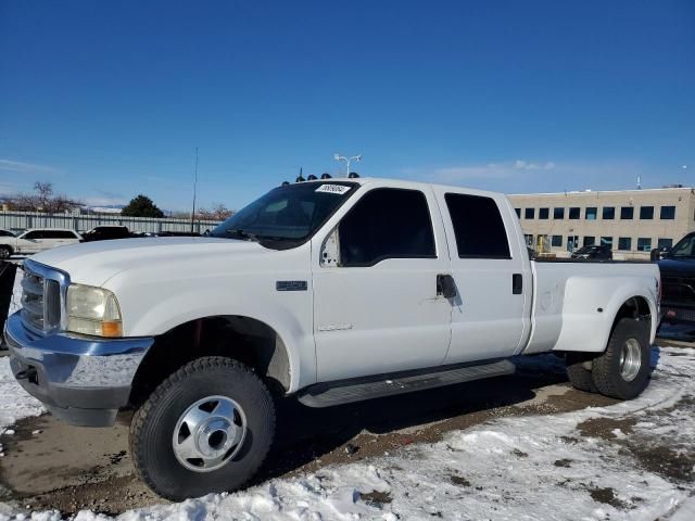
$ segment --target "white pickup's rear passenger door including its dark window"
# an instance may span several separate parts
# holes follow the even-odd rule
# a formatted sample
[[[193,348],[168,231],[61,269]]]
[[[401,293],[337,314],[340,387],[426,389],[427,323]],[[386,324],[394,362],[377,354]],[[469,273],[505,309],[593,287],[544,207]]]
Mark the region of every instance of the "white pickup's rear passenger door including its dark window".
[[[530,264],[515,233],[514,209],[504,196],[434,191],[458,293],[445,364],[514,355],[528,334],[531,306]]]

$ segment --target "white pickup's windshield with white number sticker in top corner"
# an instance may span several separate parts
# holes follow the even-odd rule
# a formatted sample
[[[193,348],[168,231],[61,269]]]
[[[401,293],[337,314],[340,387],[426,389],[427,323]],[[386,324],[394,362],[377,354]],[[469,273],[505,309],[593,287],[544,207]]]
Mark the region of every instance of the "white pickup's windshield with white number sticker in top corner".
[[[313,236],[356,186],[353,182],[301,182],[278,187],[233,214],[211,236],[255,240],[275,249],[293,247]]]

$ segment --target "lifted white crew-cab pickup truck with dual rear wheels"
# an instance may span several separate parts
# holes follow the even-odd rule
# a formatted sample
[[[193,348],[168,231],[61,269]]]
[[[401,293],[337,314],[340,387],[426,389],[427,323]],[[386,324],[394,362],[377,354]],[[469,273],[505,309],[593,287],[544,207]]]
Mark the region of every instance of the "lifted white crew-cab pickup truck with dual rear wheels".
[[[630,399],[659,317],[655,264],[532,262],[504,195],[384,179],[286,183],[208,238],[79,244],[24,270],[16,379],[74,424],[136,409],[132,460],[172,499],[256,472],[276,393],[325,407],[557,352],[574,386]]]

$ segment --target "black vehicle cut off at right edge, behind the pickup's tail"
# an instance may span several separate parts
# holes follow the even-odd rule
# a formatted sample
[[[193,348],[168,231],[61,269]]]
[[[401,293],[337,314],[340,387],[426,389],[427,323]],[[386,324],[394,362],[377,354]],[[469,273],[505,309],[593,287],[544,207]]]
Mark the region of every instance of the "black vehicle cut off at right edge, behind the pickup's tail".
[[[695,325],[695,232],[661,254],[664,320]]]

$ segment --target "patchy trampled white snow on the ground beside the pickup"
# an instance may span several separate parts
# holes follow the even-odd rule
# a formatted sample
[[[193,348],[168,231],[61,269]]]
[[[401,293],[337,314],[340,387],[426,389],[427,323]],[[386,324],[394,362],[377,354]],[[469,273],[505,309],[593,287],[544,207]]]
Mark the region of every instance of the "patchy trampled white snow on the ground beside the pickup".
[[[632,402],[498,419],[366,462],[132,510],[118,520],[692,520],[695,350],[655,348],[654,355],[649,387]],[[685,466],[659,467],[665,450],[686,456]],[[90,511],[75,517],[105,519]]]

